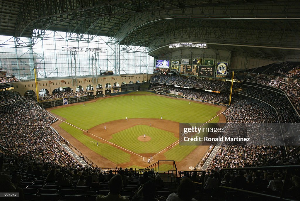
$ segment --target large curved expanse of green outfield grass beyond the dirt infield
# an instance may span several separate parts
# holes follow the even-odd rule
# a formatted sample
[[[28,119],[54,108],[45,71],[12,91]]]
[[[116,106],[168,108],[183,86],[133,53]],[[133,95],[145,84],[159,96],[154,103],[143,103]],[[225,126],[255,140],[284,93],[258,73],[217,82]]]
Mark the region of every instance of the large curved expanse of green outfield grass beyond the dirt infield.
[[[134,99],[134,100],[132,100]],[[85,106],[70,105],[51,112],[66,119],[68,123],[83,130],[101,123],[128,118],[160,118],[176,122],[206,122],[220,108],[183,99],[162,96],[117,96],[87,102]],[[217,122],[219,117],[215,118]]]

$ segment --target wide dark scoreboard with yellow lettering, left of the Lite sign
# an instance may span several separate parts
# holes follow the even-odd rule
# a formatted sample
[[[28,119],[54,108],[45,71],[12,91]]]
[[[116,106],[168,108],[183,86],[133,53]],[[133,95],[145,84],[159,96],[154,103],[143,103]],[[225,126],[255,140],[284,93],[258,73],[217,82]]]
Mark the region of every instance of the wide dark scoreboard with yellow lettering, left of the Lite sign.
[[[207,65],[180,65],[180,75],[191,75],[201,77],[215,77],[215,66]]]

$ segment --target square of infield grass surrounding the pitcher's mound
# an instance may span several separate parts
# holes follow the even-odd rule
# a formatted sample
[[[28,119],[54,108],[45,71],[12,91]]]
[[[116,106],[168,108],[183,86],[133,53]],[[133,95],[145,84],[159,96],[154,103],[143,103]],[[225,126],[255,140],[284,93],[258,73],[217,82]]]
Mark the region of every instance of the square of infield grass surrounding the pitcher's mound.
[[[137,139],[144,134],[151,137],[151,140],[142,142]],[[174,133],[146,125],[137,125],[112,136],[113,139],[109,140],[110,142],[137,154],[158,153],[178,140],[174,137]]]

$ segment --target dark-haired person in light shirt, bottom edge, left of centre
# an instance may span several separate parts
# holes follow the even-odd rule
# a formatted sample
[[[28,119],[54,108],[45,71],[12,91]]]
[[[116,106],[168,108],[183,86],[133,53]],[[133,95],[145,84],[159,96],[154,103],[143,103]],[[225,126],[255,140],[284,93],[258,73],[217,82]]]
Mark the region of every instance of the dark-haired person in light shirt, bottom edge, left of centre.
[[[119,194],[122,190],[122,183],[123,181],[121,175],[113,176],[113,178],[110,179],[110,183],[108,184],[108,187],[110,189],[108,195],[98,195],[96,197],[96,201],[129,201],[127,197],[121,196]]]

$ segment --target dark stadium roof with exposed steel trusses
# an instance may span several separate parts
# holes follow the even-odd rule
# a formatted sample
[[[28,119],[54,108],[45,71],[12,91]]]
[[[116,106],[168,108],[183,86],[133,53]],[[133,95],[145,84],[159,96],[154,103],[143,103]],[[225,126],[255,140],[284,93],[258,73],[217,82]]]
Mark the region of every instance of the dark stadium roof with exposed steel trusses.
[[[155,57],[178,42],[278,60],[300,54],[299,0],[0,0],[0,10],[0,35],[104,35]]]

